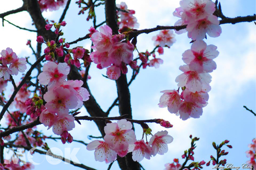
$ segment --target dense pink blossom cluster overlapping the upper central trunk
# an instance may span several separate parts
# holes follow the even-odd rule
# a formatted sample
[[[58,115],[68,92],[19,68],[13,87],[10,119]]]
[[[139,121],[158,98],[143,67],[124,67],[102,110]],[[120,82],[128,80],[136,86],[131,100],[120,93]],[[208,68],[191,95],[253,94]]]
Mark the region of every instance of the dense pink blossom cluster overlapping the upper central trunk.
[[[92,28],[91,28],[92,29]],[[97,64],[97,68],[107,68],[107,76],[110,79],[118,79],[128,72],[127,64],[132,65],[134,45],[129,41],[120,42],[125,39],[124,34],[112,36],[109,26],[101,26],[99,31],[94,29],[91,35],[92,48],[95,50],[90,58]],[[92,31],[90,31],[92,32]]]

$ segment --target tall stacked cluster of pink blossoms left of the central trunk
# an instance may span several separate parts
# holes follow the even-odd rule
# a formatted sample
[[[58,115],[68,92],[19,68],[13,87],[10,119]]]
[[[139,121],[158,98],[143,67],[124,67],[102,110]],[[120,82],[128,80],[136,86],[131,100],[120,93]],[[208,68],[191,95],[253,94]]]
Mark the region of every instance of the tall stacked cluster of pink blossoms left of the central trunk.
[[[40,122],[48,129],[53,127],[53,133],[61,135],[65,139],[69,136],[66,131],[75,127],[75,118],[69,114],[70,109],[81,108],[83,101],[89,99],[87,89],[81,87],[81,80],[67,80],[70,67],[67,63],[47,62],[43,66],[43,72],[38,76],[41,85],[47,85],[44,94],[46,104],[41,114]],[[40,101],[40,99],[38,100]],[[63,139],[65,142],[65,140]]]

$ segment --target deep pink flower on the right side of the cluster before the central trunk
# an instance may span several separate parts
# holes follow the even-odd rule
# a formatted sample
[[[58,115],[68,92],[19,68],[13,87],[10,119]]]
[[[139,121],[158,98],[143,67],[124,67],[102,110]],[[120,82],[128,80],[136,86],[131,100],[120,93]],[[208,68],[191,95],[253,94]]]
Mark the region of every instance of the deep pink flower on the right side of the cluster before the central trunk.
[[[120,65],[121,62],[129,64],[133,59],[133,50],[134,46],[131,44],[116,42],[109,51],[109,57],[113,59],[115,65]]]

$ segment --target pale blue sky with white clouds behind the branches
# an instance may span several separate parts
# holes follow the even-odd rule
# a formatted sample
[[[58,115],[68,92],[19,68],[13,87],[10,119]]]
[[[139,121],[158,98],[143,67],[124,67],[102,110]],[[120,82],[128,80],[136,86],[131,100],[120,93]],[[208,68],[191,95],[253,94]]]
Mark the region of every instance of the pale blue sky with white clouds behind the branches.
[[[122,2],[121,0],[116,1],[116,3]],[[135,17],[140,23],[139,29],[153,28],[157,25],[172,26],[178,20],[177,17],[172,15],[172,12],[179,7],[179,0],[161,0],[160,3],[155,0],[129,0],[126,3],[129,9],[136,11]],[[0,13],[18,8],[21,5],[21,0],[2,2]],[[255,6],[255,0],[221,1],[222,11],[227,17],[252,15],[256,11]],[[49,20],[58,21],[62,10],[63,8],[59,11],[44,12],[43,15]],[[103,6],[96,9],[97,23],[105,19],[103,10]],[[67,26],[63,28],[64,38],[67,42],[83,37],[92,25],[91,22],[85,20],[87,15],[78,16],[78,11],[79,8],[75,1],[72,1],[65,18]],[[6,20],[21,27],[34,28],[31,25],[31,18],[26,12],[7,16]],[[254,23],[224,24],[221,25],[221,28],[222,34],[220,37],[208,37],[205,40],[208,45],[216,45],[220,54],[215,59],[217,69],[211,73],[212,82],[210,85],[212,90],[209,92],[209,104],[204,108],[201,118],[182,121],[178,116],[169,113],[167,108],[158,108],[157,106],[161,96],[160,91],[177,89],[175,78],[181,74],[179,66],[184,64],[181,55],[191,46],[189,44],[191,40],[187,38],[187,34],[176,35],[177,42],[170,49],[164,48],[164,55],[158,56],[157,54],[157,57],[164,60],[159,69],[147,68],[141,70],[130,86],[134,119],[162,118],[169,120],[174,125],[173,128],[167,129],[169,134],[174,137],[174,141],[169,144],[168,153],[164,156],[155,156],[151,160],[144,159],[141,161],[146,170],[164,169],[164,164],[171,163],[174,158],[179,158],[180,162],[183,163],[181,155],[190,145],[190,134],[200,137],[197,142],[198,147],[195,149],[196,161],[209,161],[210,155],[215,156],[216,154],[212,142],[215,141],[218,144],[225,139],[230,140],[230,144],[233,146],[233,149],[225,149],[229,151],[229,154],[225,156],[227,163],[241,166],[248,160],[245,151],[248,149],[247,145],[256,136],[256,119],[255,116],[243,108],[243,105],[256,111],[255,25]],[[145,51],[148,49],[151,51],[154,48],[154,42],[151,38],[156,34],[159,34],[159,32],[141,34],[138,37],[138,50]],[[26,40],[31,39],[35,48],[35,33],[19,30],[5,23],[5,27],[0,27],[0,37],[1,49],[10,47],[19,57],[32,56],[32,52],[26,46]],[[90,40],[84,40],[77,45],[89,49],[90,44]],[[134,52],[134,56],[137,56],[137,52]],[[102,77],[105,72],[106,69],[99,70],[93,64],[89,72],[92,79],[88,82],[92,94],[104,111],[108,109],[117,96],[115,82]],[[131,72],[131,70],[128,71],[128,79],[131,77]],[[19,78],[20,74],[15,77],[15,80],[18,81]],[[104,84],[104,87],[102,87],[102,84]],[[7,89],[8,91],[10,91],[10,86]],[[9,94],[11,93],[9,92]],[[87,115],[85,109],[81,111],[81,115]],[[118,114],[118,108],[115,107],[110,116],[117,116]],[[153,133],[165,130],[160,125],[149,125]],[[137,125],[135,127],[137,139],[140,139],[142,129]],[[52,134],[52,130],[47,130],[43,125],[38,126],[38,130],[42,130],[46,135]],[[90,142],[87,136],[98,136],[99,131],[94,122],[82,122],[82,125],[76,124],[76,128],[71,131],[71,134],[74,139]],[[87,151],[82,144],[73,142],[72,144],[63,145],[54,141],[47,141],[47,143],[50,147],[59,147],[61,150],[64,150],[64,147],[70,147],[71,150],[74,147],[79,147],[77,157],[81,163],[99,170],[105,170],[108,167],[108,164],[104,162],[95,162],[93,152]],[[38,154],[35,154],[34,157],[35,162],[44,159],[44,156]],[[44,159],[43,163],[37,165],[35,169],[44,170],[46,167],[53,169],[57,166],[49,164]],[[79,169],[63,162],[58,165],[58,169],[66,170],[70,168]],[[115,162],[112,170],[118,169],[117,162]],[[206,167],[205,169],[211,168]]]

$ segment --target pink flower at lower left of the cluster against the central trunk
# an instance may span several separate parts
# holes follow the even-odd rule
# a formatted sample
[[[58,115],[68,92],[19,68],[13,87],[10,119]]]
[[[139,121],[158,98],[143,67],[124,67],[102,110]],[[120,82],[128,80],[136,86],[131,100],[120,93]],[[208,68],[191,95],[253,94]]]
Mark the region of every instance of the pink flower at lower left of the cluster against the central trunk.
[[[102,68],[107,68],[108,66],[111,66],[111,64],[113,63],[113,59],[108,56],[108,51],[93,51],[90,54],[90,58],[93,60],[95,64],[100,64]]]

